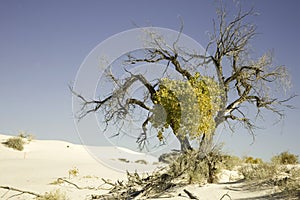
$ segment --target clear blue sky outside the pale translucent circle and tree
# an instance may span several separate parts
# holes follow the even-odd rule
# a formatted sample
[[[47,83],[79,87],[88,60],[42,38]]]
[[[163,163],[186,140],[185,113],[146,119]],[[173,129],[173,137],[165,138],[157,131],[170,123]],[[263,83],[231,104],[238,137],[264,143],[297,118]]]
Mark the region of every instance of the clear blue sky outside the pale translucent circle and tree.
[[[229,11],[232,1],[224,1]],[[38,139],[80,143],[73,124],[68,84],[88,53],[101,41],[139,26],[178,30],[205,45],[216,17],[213,1],[0,1],[0,133],[18,130]],[[287,65],[292,92],[300,94],[300,2],[297,0],[242,1],[260,13],[254,23],[259,35],[252,45],[257,54],[274,50],[275,63]],[[265,159],[289,150],[300,154],[299,97],[297,109],[287,111],[284,122],[266,123],[256,141],[237,130],[224,132],[225,149],[238,155]]]

